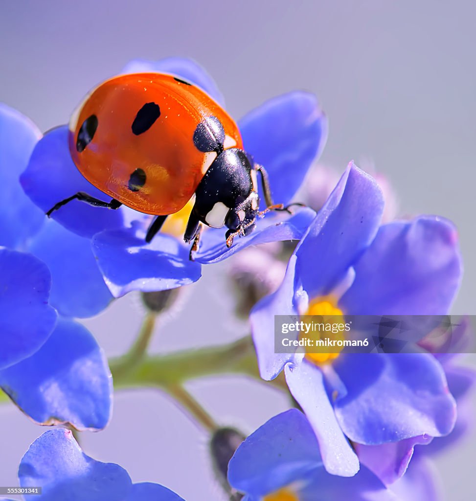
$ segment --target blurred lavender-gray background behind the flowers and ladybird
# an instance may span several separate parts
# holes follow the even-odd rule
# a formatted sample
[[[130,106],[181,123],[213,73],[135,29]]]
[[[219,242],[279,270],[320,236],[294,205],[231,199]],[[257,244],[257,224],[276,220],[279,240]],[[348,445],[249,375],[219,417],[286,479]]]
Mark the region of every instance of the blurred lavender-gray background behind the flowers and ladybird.
[[[128,60],[168,56],[202,64],[235,118],[280,93],[312,91],[330,121],[323,163],[341,172],[351,159],[370,161],[393,183],[402,215],[437,213],[456,223],[465,275],[453,312],[475,314],[474,19],[471,1],[2,0],[0,100],[46,131],[66,123],[89,88]],[[247,332],[222,299],[229,297],[225,268],[204,269],[183,299],[186,315],[161,323],[154,350]],[[142,314],[129,295],[86,324],[115,355],[131,343]],[[246,432],[287,408],[265,384],[237,377],[188,388],[215,419]],[[17,484],[18,463],[42,431],[12,405],[0,407],[0,485]],[[110,426],[82,443],[134,481],[162,482],[188,501],[224,499],[205,434],[158,392],[117,393]],[[438,459],[447,499],[476,494],[475,445],[472,433]]]

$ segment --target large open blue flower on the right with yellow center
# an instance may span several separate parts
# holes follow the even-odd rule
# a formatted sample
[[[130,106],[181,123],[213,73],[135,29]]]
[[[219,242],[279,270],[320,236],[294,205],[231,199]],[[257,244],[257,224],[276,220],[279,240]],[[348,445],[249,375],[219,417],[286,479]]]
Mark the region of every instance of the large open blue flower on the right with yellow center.
[[[455,402],[429,353],[274,353],[274,315],[440,315],[454,298],[461,260],[453,225],[420,216],[379,227],[379,187],[353,164],[291,257],[278,290],[251,314],[264,379],[285,370],[318,438],[326,469],[359,469],[349,439],[377,445],[448,434]]]

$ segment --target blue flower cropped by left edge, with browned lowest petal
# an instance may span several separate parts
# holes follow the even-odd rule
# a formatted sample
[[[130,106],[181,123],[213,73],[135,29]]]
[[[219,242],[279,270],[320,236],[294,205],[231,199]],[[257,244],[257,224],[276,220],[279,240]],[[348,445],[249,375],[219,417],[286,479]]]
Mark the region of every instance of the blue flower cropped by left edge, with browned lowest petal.
[[[44,224],[20,185],[38,129],[5,105],[0,127],[0,224],[11,247],[0,247],[0,388],[40,424],[103,428],[112,401],[107,361],[91,333],[65,317],[94,315],[112,296],[89,240]]]

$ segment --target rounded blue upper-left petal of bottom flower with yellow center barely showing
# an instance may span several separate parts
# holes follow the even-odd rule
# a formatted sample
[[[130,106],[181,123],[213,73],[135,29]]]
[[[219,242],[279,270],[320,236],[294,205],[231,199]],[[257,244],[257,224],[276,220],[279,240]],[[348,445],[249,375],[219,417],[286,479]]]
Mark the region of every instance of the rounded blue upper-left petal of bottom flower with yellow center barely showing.
[[[302,412],[291,409],[258,428],[228,464],[232,487],[266,495],[322,464],[319,444]]]

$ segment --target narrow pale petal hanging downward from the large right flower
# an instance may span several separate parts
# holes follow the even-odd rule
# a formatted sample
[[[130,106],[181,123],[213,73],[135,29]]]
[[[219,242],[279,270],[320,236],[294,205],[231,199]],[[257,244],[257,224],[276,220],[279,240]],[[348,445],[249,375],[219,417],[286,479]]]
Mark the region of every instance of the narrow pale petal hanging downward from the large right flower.
[[[326,470],[333,475],[355,475],[359,471],[359,459],[337,422],[322,372],[303,361],[297,365],[288,364],[285,374],[289,390],[316,433]]]

